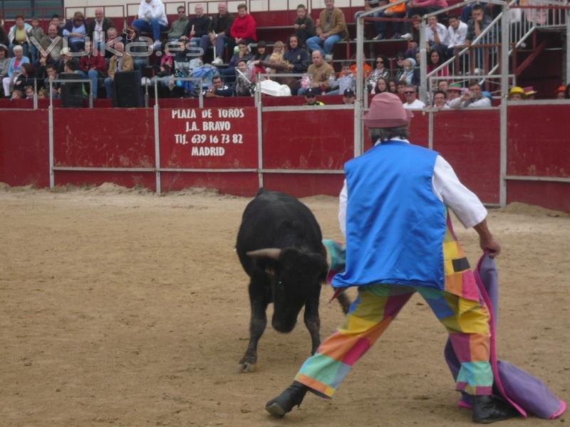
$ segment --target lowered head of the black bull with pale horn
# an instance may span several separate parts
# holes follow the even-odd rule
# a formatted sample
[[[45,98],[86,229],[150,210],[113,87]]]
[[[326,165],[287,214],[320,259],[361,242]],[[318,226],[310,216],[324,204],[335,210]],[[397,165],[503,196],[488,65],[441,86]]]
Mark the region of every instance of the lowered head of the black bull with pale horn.
[[[321,281],[328,265],[322,253],[300,251],[298,248],[265,248],[247,252],[252,258],[272,260],[271,292],[276,331],[291,332],[297,316],[309,297],[320,295]]]

